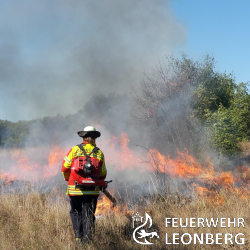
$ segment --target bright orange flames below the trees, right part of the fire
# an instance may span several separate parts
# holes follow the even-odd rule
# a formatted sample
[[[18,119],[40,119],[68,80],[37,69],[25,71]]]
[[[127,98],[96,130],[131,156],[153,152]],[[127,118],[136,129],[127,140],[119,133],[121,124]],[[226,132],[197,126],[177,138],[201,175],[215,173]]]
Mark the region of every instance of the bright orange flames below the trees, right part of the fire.
[[[249,189],[246,189],[250,183],[250,168],[247,166],[238,167],[234,172],[219,172],[214,170],[209,159],[206,167],[202,166],[188,154],[188,150],[178,151],[178,157],[175,159],[171,159],[169,155],[162,155],[157,149],[150,150],[150,153],[152,154],[151,164],[155,165],[157,171],[172,178],[196,181],[193,183],[193,189],[210,204],[224,203],[219,193],[222,188],[226,192],[238,194],[243,199],[246,199],[246,195],[250,193]],[[235,185],[241,189],[236,188]]]

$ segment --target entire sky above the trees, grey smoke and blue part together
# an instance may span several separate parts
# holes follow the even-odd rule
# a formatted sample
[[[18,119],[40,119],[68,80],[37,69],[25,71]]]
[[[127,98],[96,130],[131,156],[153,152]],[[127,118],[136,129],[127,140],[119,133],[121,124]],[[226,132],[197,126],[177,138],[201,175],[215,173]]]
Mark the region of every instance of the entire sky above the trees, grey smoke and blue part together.
[[[249,1],[0,0],[0,119],[74,114],[127,93],[167,55],[212,54],[250,80]]]

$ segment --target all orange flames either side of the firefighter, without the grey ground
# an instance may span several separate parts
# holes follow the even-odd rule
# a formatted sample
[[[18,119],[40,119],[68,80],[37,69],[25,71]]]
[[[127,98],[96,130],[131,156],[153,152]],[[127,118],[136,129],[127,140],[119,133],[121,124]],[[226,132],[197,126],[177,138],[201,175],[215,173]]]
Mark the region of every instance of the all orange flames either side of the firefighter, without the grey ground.
[[[214,169],[209,159],[202,165],[188,153],[188,150],[177,151],[177,157],[171,158],[169,155],[163,155],[158,149],[139,153],[135,147],[132,150],[129,144],[130,140],[125,133],[120,137],[113,136],[103,145],[98,143],[105,153],[108,168],[114,166],[114,171],[126,169],[136,169],[141,172],[155,171],[177,180],[185,180],[192,183],[189,188],[206,199],[208,204],[223,204],[221,189],[237,194],[242,199],[248,199],[250,196],[250,168],[246,165],[238,166],[234,171],[218,171]],[[0,179],[5,184],[11,184],[14,180],[30,182],[50,180],[60,170],[67,151],[68,148],[64,149],[58,145],[53,145],[51,149],[13,150],[10,152],[11,163],[8,165],[8,170],[1,170]],[[107,197],[102,196],[98,201],[96,214],[106,214],[111,208],[112,203]],[[127,210],[124,203],[123,211]],[[114,211],[119,213],[117,208]]]

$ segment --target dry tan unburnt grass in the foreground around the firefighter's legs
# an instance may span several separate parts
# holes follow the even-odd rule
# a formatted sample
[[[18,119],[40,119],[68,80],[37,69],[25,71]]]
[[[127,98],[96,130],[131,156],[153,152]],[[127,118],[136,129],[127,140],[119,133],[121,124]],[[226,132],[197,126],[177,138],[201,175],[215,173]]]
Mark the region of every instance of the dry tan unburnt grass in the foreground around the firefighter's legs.
[[[91,244],[77,248],[69,216],[69,204],[65,197],[55,199],[55,193],[41,196],[38,192],[28,195],[2,194],[0,196],[0,249],[248,249],[250,223],[249,197],[242,199],[237,194],[221,191],[225,202],[221,206],[208,204],[203,198],[191,202],[182,197],[155,196],[148,205],[134,208],[141,215],[147,211],[152,219],[152,228],[158,230],[159,240],[152,246],[139,245],[132,239],[132,224],[119,212],[110,212],[97,219],[96,233]],[[172,228],[165,227],[165,218],[237,218],[245,219],[245,228]],[[237,233],[245,234],[244,245],[173,245],[165,244],[165,234]]]

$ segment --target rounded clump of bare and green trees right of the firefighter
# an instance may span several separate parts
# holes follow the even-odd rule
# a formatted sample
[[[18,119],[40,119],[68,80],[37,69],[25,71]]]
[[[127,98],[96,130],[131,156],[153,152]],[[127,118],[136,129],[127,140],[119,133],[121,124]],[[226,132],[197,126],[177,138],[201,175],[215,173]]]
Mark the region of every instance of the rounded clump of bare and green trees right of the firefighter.
[[[239,152],[238,142],[249,139],[249,95],[232,74],[215,70],[214,58],[194,61],[167,57],[151,76],[133,90],[138,117],[154,131],[151,141],[173,154],[187,148],[206,153]],[[246,118],[247,117],[247,118]]]

